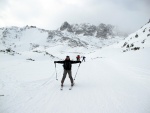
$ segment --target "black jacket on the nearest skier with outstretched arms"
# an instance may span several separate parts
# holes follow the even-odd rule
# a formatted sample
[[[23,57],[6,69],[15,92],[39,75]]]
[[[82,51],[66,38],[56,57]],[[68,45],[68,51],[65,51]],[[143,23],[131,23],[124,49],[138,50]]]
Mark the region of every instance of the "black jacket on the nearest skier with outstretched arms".
[[[64,60],[64,61],[54,61],[54,63],[63,64],[65,70],[71,70],[72,64],[81,63],[81,61]]]

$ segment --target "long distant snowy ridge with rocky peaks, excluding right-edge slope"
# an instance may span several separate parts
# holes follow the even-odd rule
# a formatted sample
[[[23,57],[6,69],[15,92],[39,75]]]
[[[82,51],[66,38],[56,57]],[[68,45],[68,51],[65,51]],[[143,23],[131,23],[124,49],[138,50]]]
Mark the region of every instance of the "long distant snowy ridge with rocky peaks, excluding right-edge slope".
[[[16,51],[29,51],[39,47],[65,45],[71,48],[100,48],[110,45],[125,36],[116,33],[114,26],[100,24],[70,25],[64,22],[58,30],[44,30],[36,26],[0,28],[1,49],[11,48]]]

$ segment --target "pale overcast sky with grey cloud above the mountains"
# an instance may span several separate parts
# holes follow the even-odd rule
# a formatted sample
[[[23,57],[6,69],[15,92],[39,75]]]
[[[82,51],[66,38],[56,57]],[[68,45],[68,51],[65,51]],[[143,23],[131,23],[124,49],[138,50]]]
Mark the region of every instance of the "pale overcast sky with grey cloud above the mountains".
[[[54,30],[67,21],[112,24],[132,33],[149,19],[150,0],[0,0],[0,27]]]

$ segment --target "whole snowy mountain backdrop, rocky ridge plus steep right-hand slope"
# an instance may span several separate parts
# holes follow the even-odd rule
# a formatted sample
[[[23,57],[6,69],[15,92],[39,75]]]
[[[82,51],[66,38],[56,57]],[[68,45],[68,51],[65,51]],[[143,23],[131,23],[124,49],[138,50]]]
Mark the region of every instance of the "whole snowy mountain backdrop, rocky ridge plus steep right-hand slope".
[[[25,52],[41,53],[55,58],[57,53],[87,53],[118,43],[123,52],[149,47],[150,21],[125,38],[125,33],[115,26],[101,23],[69,24],[64,22],[57,30],[45,30],[36,26],[0,28],[0,52],[22,55]]]

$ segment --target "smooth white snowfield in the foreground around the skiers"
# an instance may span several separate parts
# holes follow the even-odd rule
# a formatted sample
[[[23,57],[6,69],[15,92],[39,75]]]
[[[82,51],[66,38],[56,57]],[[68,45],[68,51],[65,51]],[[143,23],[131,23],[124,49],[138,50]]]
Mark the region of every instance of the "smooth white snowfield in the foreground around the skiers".
[[[78,73],[71,91],[68,76],[60,90],[63,67],[55,68],[56,59],[31,62],[1,54],[0,113],[150,113],[149,50],[123,53],[105,47],[84,54],[79,70],[79,64],[72,66],[73,77]],[[69,55],[75,60],[77,54]]]

